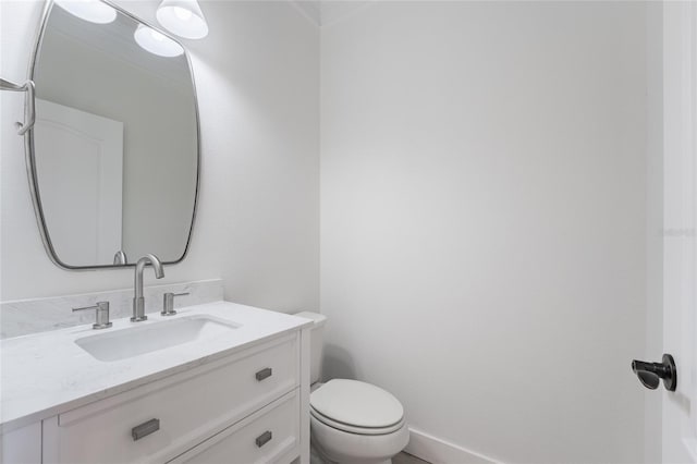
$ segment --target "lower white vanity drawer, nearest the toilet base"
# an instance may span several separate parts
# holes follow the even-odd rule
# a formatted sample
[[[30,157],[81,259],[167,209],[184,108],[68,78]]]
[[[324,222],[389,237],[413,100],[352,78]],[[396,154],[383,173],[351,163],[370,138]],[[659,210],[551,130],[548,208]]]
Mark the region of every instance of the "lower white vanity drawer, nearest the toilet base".
[[[229,427],[170,464],[291,462],[299,451],[297,390]]]

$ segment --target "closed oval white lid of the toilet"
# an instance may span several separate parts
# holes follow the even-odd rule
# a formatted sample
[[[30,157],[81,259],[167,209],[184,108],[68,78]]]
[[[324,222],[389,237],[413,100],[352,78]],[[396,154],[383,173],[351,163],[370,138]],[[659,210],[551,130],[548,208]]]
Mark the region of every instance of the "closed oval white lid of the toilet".
[[[354,427],[384,428],[404,417],[402,403],[391,393],[357,380],[330,380],[313,392],[309,403],[322,416]]]

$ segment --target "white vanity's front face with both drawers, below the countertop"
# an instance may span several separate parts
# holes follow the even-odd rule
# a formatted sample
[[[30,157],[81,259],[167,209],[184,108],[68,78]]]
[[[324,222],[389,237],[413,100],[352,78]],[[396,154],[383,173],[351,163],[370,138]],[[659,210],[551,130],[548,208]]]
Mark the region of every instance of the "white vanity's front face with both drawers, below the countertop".
[[[301,337],[285,334],[45,419],[42,462],[291,462],[303,441]]]

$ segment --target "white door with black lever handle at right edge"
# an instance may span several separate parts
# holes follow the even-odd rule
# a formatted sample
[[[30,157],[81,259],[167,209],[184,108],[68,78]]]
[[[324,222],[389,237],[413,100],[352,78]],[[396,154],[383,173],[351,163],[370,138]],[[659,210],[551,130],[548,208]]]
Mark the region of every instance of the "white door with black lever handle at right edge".
[[[697,463],[697,2],[663,4],[663,352],[677,367],[662,390],[662,461]],[[658,355],[658,354],[657,354]]]

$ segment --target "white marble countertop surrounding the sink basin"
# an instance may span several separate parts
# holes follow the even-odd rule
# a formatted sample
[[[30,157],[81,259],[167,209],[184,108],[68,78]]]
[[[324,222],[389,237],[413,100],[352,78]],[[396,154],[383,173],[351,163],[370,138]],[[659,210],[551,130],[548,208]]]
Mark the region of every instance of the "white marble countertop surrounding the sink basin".
[[[239,327],[232,337],[213,337],[111,362],[97,361],[75,343],[83,337],[197,315],[213,316]],[[148,320],[137,323],[129,318],[117,319],[106,330],[93,330],[88,325],[2,340],[0,431],[131,390],[309,325],[307,319],[282,313],[216,302],[178,309],[176,316],[148,314]]]

